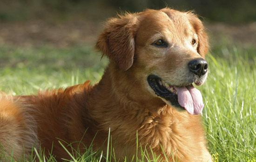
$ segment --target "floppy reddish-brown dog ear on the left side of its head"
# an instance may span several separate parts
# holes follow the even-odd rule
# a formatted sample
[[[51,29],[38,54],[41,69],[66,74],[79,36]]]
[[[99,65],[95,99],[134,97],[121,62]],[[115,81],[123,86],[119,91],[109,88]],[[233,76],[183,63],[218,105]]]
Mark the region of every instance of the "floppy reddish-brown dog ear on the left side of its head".
[[[130,13],[109,19],[96,44],[103,55],[123,70],[128,70],[133,64],[137,22],[135,14]]]

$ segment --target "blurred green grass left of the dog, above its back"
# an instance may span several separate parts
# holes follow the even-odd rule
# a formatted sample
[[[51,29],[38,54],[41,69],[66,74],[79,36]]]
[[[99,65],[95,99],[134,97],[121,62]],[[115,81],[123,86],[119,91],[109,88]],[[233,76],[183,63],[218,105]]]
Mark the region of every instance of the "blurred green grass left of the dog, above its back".
[[[39,89],[68,87],[99,81],[108,61],[88,47],[71,49],[0,48],[0,91],[36,93]]]

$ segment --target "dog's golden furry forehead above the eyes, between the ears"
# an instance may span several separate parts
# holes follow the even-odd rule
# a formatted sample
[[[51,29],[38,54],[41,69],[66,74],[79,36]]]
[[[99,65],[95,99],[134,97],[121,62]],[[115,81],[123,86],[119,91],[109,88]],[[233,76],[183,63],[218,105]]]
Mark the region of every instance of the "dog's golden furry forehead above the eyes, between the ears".
[[[155,34],[177,37],[194,32],[185,12],[175,10],[150,10],[141,15],[138,37],[148,40]],[[178,36],[179,37],[179,36]]]

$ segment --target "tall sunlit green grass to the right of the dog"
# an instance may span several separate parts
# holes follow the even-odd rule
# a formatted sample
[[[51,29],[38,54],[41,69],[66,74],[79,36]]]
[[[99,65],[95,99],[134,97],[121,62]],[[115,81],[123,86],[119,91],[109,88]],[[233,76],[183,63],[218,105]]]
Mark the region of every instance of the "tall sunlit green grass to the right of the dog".
[[[256,161],[255,51],[231,48],[226,58],[208,57],[203,119],[210,151],[220,162]]]

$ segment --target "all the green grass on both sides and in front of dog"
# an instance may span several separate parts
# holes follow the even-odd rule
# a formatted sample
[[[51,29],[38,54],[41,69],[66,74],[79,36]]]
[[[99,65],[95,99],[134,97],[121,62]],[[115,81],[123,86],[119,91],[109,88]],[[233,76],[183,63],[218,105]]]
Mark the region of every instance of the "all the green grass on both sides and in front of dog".
[[[86,80],[94,83],[100,80],[108,63],[89,47],[2,46],[0,53],[0,91],[11,94],[36,93],[39,89],[67,87]],[[203,123],[215,162],[256,162],[255,53],[256,48],[220,46],[207,56],[210,73],[199,89],[205,103]],[[54,162],[53,157],[45,160],[42,152],[37,154],[40,162]],[[139,151],[137,154],[146,156],[135,157],[134,161],[148,161],[149,153]],[[74,151],[70,155],[72,162],[101,162],[105,161],[103,158],[115,161],[114,157],[102,157],[101,152],[91,148],[85,153]]]

